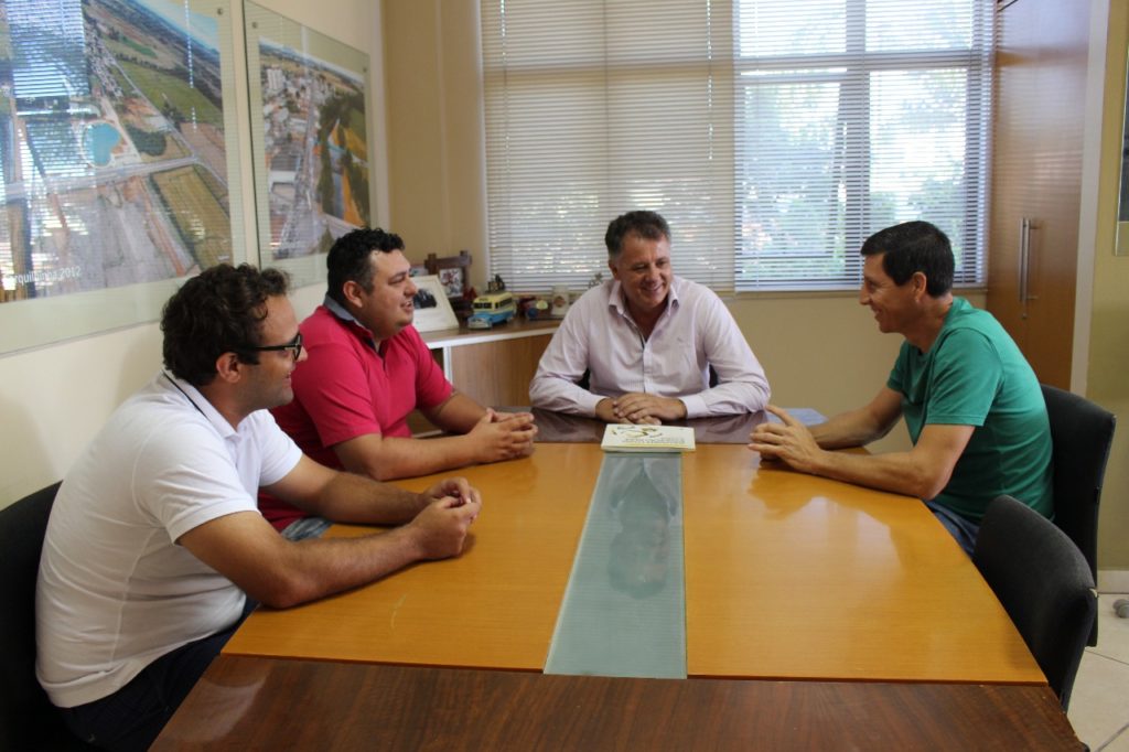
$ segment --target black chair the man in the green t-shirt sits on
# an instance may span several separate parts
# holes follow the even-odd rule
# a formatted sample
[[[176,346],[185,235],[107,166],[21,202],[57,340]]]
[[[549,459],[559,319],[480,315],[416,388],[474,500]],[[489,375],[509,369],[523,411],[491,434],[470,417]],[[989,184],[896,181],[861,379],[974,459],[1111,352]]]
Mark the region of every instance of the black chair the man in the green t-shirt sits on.
[[[1043,387],[1054,457],[1054,524],[1070,536],[1097,582],[1097,505],[1117,418],[1089,400]],[[1087,645],[1097,645],[1097,622]]]

